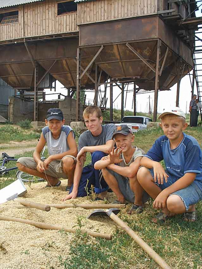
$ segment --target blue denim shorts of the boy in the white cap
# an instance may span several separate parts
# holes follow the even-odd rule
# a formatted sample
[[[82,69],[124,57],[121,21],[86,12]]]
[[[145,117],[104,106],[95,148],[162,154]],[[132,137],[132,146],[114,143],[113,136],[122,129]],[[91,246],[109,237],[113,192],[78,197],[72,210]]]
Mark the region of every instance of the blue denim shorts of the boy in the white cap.
[[[152,178],[154,178],[153,168],[148,169],[148,170],[151,173]],[[175,181],[176,179],[173,180],[171,176],[169,175],[167,183],[164,181],[163,184],[159,184],[158,182],[156,182],[155,184],[159,186],[161,190],[164,190],[170,185],[172,185]],[[189,206],[191,206],[192,204],[196,204],[200,200],[202,200],[202,191],[200,190],[200,188],[195,182],[192,182],[188,187],[181,190],[177,190],[176,192],[173,192],[170,195],[172,194],[178,195],[182,199],[184,206],[186,208],[186,211],[189,209]]]

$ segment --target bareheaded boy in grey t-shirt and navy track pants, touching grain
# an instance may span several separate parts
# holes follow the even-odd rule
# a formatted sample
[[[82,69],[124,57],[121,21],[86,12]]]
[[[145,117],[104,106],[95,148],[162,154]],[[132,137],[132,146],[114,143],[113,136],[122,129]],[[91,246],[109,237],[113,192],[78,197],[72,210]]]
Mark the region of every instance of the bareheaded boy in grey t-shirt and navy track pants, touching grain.
[[[69,194],[62,201],[86,196],[86,187],[89,190],[91,185],[95,186],[99,200],[104,200],[107,194],[108,185],[102,176],[102,170],[95,170],[94,164],[112,151],[115,125],[113,123],[102,125],[102,112],[96,105],[86,107],[83,119],[88,130],[79,137],[74,182]],[[91,153],[92,164],[83,168],[87,152]]]

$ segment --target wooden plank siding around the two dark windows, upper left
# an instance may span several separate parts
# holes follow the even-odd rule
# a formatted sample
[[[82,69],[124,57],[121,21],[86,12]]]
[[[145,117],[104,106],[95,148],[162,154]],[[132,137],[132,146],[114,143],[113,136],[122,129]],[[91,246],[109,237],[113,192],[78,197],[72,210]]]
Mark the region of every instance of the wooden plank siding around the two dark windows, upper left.
[[[77,13],[57,16],[57,2],[46,0],[0,9],[0,12],[19,11],[19,22],[0,25],[0,41],[79,31]]]

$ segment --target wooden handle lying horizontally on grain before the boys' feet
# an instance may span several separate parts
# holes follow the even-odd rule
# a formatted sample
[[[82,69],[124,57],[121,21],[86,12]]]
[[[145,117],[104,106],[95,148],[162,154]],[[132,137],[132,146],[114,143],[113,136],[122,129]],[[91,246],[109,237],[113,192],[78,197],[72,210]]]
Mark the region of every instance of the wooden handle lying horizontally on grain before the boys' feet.
[[[81,207],[86,209],[91,208],[125,208],[125,204],[49,204],[50,207],[55,208],[70,208],[70,207]]]

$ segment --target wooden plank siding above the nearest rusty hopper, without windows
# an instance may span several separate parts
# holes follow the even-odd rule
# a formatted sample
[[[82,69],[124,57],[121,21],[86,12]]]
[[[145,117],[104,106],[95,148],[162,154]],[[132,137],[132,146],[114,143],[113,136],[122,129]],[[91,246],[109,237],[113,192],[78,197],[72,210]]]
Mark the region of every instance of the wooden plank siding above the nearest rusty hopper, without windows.
[[[77,4],[77,23],[144,16],[157,12],[156,0],[96,0]]]

